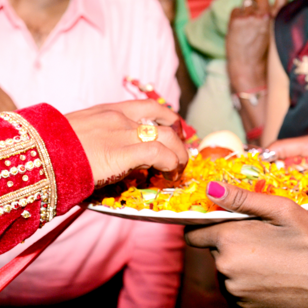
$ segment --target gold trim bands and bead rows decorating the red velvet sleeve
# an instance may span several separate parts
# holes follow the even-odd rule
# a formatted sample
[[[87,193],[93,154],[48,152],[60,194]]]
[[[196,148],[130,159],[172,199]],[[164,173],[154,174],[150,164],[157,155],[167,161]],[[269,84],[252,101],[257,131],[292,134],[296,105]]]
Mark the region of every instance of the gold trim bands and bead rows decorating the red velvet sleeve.
[[[4,213],[10,213],[12,209],[18,209],[33,203],[35,200],[41,200],[40,226],[43,226],[56,215],[57,204],[55,173],[46,146],[36,129],[21,115],[15,112],[1,112],[0,118],[9,122],[18,130],[20,135],[0,141],[0,160],[24,153],[32,148],[36,148],[39,155],[39,159],[35,159],[33,162],[28,161],[26,164],[12,167],[10,170],[2,170],[0,178],[7,178],[17,173],[25,173],[26,170],[32,170],[34,167],[39,168],[41,166],[44,172],[39,173],[46,176],[46,179],[40,180],[33,185],[0,196],[0,216]]]

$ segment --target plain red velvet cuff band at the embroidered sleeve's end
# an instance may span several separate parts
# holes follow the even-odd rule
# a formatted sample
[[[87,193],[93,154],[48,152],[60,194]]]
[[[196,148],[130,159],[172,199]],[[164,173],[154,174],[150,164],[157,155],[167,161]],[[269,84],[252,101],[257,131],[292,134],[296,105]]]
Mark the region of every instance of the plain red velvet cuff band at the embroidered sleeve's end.
[[[89,197],[94,180],[83,147],[67,119],[54,107],[42,103],[17,111],[44,140],[55,172],[57,215]]]

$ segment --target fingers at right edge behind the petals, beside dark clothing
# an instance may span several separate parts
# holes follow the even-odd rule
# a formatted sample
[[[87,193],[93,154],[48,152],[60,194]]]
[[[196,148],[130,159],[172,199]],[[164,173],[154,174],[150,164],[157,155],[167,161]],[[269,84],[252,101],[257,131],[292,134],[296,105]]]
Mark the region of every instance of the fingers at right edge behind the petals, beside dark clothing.
[[[286,138],[277,140],[269,147],[270,151],[275,151],[280,159],[291,156],[308,156],[308,136]]]

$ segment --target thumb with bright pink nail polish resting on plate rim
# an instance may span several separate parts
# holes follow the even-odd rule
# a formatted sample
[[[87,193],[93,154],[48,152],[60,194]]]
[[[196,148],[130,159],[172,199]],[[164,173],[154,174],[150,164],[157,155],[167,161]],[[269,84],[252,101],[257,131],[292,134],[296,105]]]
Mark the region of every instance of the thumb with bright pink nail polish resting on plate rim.
[[[287,217],[286,212],[290,209],[300,208],[295,202],[285,197],[253,193],[221,182],[209,182],[206,191],[209,199],[222,208],[261,217],[274,225],[281,225]]]

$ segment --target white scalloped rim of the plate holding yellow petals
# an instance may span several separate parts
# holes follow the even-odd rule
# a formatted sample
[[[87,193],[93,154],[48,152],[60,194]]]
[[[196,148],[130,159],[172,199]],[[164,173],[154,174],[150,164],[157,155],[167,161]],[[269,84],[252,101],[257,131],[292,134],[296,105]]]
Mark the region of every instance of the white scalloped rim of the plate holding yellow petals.
[[[308,210],[308,204],[303,204],[302,207]],[[209,213],[185,211],[176,213],[173,211],[164,210],[155,212],[150,209],[143,209],[138,211],[129,207],[124,207],[123,209],[110,209],[104,205],[93,204],[87,205],[87,208],[96,212],[122,218],[176,225],[209,225],[222,221],[243,220],[253,217],[246,214],[231,213],[227,211],[213,211]]]

